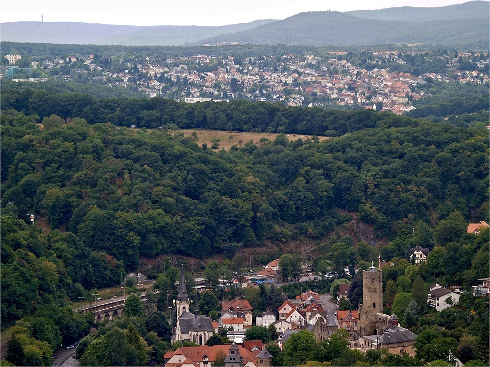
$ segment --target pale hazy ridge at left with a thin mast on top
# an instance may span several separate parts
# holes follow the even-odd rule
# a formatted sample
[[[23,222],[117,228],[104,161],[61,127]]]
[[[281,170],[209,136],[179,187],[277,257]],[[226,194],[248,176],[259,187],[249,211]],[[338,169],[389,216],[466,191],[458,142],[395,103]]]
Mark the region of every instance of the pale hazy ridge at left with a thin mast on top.
[[[255,28],[273,20],[222,25],[134,26],[76,22],[13,22],[0,24],[0,40],[10,42],[120,45],[182,46],[187,43]]]

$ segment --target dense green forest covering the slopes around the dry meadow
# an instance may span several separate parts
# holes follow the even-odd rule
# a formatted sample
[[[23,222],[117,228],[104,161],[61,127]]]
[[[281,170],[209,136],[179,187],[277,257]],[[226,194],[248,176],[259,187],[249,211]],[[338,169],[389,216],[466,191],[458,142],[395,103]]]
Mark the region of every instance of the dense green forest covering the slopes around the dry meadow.
[[[245,142],[214,151],[178,131],[154,129],[159,126],[312,137],[290,141],[280,134],[262,146]],[[326,131],[337,138],[319,142],[314,134]],[[142,258],[162,254],[220,253],[233,259],[243,248],[300,239],[320,244],[318,269],[327,260],[334,267],[353,267],[359,259],[370,263],[381,255],[395,264],[386,274],[385,305],[402,313],[409,298],[395,294],[409,294],[417,276],[422,283],[466,288],[488,276],[488,235],[466,234],[468,222],[489,221],[485,129],[372,110],[240,100],[186,105],[161,98],[2,90],[0,153],[1,325],[16,324],[19,335],[39,341],[36,348],[45,358],[32,357],[24,365],[46,365],[59,340],[86,335],[91,325],[90,318],[68,308],[63,321],[53,304],[120,284]],[[27,224],[26,213],[36,214],[34,226]],[[372,226],[377,246],[332,237],[353,216]],[[414,245],[433,250],[423,266],[406,260]],[[254,257],[257,264],[269,260],[261,252]],[[172,288],[165,277],[158,279],[157,286]],[[484,308],[478,307],[478,312]],[[101,328],[104,343],[121,335],[147,337],[152,330],[145,328],[147,319],[139,311],[133,316],[140,319]],[[456,316],[431,317],[438,325],[458,323]],[[429,328],[423,319],[413,321],[419,331]],[[460,326],[476,335],[474,328],[484,320],[479,314]],[[71,322],[70,333],[61,330],[62,321]],[[462,335],[448,337],[461,343]],[[146,344],[138,344],[140,357],[129,347],[128,356],[147,363],[148,345],[166,339],[150,334]],[[160,346],[153,350],[162,354]]]

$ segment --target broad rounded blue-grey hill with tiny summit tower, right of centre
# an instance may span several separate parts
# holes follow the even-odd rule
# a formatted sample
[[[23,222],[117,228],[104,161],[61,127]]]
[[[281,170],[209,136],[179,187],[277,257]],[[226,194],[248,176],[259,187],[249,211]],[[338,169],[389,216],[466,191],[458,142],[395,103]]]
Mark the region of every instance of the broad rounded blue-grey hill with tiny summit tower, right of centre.
[[[481,16],[481,14],[479,14]],[[289,37],[289,41],[288,41]],[[354,17],[340,12],[306,12],[235,34],[199,43],[248,42],[296,45],[347,46],[379,44],[489,45],[489,13],[486,18],[431,22],[393,22]]]

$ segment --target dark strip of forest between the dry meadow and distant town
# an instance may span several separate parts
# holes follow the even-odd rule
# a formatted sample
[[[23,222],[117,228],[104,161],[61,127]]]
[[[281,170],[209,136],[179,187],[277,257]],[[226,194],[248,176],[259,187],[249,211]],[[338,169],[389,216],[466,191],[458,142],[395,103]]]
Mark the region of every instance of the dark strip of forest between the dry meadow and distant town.
[[[58,115],[80,117],[89,124],[183,129],[270,131],[305,135],[340,136],[373,127],[417,126],[415,119],[373,110],[326,110],[286,107],[282,104],[232,100],[185,104],[164,98],[93,98],[88,94],[42,90],[8,90],[1,93],[1,109],[15,109],[39,119]]]

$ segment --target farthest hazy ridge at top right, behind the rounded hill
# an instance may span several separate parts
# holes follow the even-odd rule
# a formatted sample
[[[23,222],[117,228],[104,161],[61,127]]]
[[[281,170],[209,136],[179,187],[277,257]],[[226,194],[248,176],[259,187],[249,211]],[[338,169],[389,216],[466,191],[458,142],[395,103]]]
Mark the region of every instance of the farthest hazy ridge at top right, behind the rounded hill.
[[[381,10],[355,10],[345,12],[345,14],[359,18],[398,22],[431,22],[451,19],[488,18],[489,13],[489,1],[468,1],[463,4],[435,8],[402,6]]]

